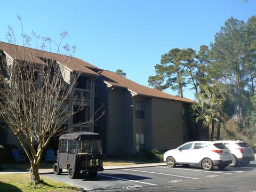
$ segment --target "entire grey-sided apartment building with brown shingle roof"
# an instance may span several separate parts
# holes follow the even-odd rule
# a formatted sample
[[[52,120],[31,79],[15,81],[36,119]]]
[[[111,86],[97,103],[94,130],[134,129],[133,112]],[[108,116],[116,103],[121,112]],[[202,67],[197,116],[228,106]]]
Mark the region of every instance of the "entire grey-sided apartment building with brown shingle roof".
[[[188,140],[185,115],[193,101],[187,98],[150,89],[74,57],[3,42],[0,42],[0,57],[1,66],[10,66],[15,60],[33,61],[38,65],[44,65],[47,60],[54,61],[60,66],[66,82],[72,81],[74,73],[80,73],[74,90],[74,108],[80,105],[82,98],[86,107],[70,118],[66,126],[70,130],[77,122],[90,119],[103,103],[106,115],[94,124],[76,127],[75,131],[100,133],[105,153],[122,151],[131,154],[153,148],[166,150]],[[1,128],[0,133],[0,143],[19,145],[12,133]],[[4,134],[5,138],[1,136]]]

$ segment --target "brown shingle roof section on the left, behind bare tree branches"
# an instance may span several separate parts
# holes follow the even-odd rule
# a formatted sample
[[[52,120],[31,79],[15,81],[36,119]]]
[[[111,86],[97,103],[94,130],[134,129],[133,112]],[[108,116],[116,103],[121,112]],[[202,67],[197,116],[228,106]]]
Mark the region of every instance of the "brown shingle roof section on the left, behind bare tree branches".
[[[7,54],[9,54],[13,59],[45,64],[39,58],[47,58],[47,59],[56,60],[62,65],[68,67],[73,71],[79,71],[85,74],[99,76],[99,74],[89,69],[89,68],[94,68],[94,69],[99,69],[99,68],[91,65],[88,62],[83,61],[82,59],[77,59],[74,57],[69,57],[66,55],[51,53],[47,51],[31,49],[29,47],[13,45],[13,44],[4,43],[4,42],[0,42],[0,50],[3,50]]]

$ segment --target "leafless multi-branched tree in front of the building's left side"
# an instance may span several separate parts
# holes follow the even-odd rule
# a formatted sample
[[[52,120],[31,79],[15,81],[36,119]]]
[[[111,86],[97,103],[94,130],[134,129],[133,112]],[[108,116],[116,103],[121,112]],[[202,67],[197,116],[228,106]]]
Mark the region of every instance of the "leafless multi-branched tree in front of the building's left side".
[[[10,49],[14,53],[11,62],[3,51],[0,55],[0,119],[17,135],[31,164],[31,183],[37,185],[43,150],[52,137],[67,131],[63,124],[77,113],[73,111],[73,90],[79,74],[68,82],[63,79],[61,70],[70,57],[54,54],[56,58],[49,59],[45,52],[41,58],[36,56],[38,50],[14,45]],[[82,103],[78,110],[83,109]],[[94,116],[80,124],[86,123],[94,123]]]

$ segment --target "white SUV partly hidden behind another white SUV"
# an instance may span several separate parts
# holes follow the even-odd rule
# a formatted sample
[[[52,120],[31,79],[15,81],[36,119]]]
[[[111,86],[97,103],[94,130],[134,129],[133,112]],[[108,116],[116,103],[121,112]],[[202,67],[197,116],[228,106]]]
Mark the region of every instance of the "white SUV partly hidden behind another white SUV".
[[[254,160],[254,153],[252,148],[243,141],[214,141],[214,143],[223,143],[230,149],[232,155],[232,162],[230,166],[236,166],[237,163],[248,165],[250,161]]]

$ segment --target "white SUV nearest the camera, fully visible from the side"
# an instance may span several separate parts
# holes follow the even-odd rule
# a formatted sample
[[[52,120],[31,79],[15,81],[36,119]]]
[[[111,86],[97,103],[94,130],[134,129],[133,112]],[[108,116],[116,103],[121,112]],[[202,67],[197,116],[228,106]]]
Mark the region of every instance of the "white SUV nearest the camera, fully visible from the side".
[[[201,165],[207,171],[212,170],[213,166],[225,168],[231,163],[231,159],[230,150],[225,145],[212,141],[187,142],[164,153],[164,162],[169,167],[194,164]]]

